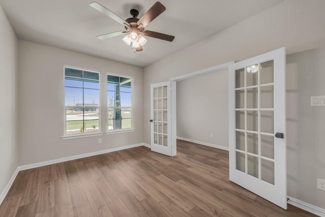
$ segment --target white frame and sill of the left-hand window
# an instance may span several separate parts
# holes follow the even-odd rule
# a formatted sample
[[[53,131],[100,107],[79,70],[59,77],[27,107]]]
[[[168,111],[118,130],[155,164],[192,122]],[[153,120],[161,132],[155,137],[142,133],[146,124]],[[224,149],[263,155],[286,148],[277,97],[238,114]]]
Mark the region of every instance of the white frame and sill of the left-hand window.
[[[75,69],[75,70],[81,70],[81,71],[87,71],[87,72],[93,72],[93,73],[98,73],[99,75],[99,103],[98,106],[66,106],[66,68],[69,69]],[[86,69],[86,68],[81,68],[81,67],[74,67],[74,66],[68,66],[68,65],[63,65],[63,136],[61,137],[63,140],[66,139],[73,139],[73,138],[83,138],[83,137],[91,137],[91,136],[100,136],[103,135],[102,132],[102,112],[101,112],[101,72],[98,70],[92,70],[92,69]],[[82,87],[84,89],[84,87]],[[87,88],[86,88],[87,89]],[[99,125],[98,125],[98,131],[94,132],[80,132],[80,133],[73,133],[73,134],[67,134],[67,108],[96,108],[98,109],[99,113]],[[83,116],[84,118],[84,116]]]

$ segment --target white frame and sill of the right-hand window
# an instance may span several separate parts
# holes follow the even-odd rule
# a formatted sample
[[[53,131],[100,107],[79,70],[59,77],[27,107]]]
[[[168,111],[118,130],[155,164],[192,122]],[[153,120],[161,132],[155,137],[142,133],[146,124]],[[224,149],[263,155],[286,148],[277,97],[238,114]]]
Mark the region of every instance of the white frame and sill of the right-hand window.
[[[129,78],[131,79],[131,107],[127,107],[127,106],[108,106],[108,88],[107,88],[107,84],[108,84],[108,80],[107,77],[108,76],[116,76],[116,77],[123,77],[123,78]],[[127,75],[122,75],[122,74],[115,74],[115,73],[106,73],[106,120],[107,120],[107,124],[106,124],[106,134],[118,134],[118,133],[125,133],[125,132],[134,132],[135,128],[134,128],[134,77],[132,76],[127,76]],[[108,121],[109,121],[109,112],[108,109],[109,108],[120,108],[120,109],[131,109],[131,128],[127,128],[127,129],[116,129],[116,130],[108,130]]]

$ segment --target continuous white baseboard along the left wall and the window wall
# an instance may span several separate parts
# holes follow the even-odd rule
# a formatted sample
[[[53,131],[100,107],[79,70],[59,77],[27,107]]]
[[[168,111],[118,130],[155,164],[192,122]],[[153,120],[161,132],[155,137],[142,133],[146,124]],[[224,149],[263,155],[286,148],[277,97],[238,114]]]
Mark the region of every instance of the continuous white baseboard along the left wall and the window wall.
[[[90,153],[78,154],[75,156],[55,159],[55,160],[51,160],[51,161],[44,161],[44,162],[39,162],[39,163],[35,163],[35,164],[27,164],[27,165],[18,166],[17,169],[15,170],[14,174],[11,176],[8,184],[6,185],[6,188],[0,194],[0,205],[4,201],[6,195],[8,194],[8,192],[11,188],[11,185],[13,184],[18,172],[21,170],[27,170],[27,169],[32,169],[32,168],[36,168],[36,167],[47,166],[50,164],[56,164],[56,163],[61,163],[61,162],[65,162],[65,161],[71,161],[71,160],[76,160],[76,159],[80,159],[80,158],[91,157],[91,156],[95,156],[98,154],[109,153],[109,152],[119,151],[119,150],[128,149],[128,148],[134,148],[134,147],[138,147],[138,146],[142,146],[142,145],[144,145],[146,147],[150,147],[150,145],[148,146],[148,144],[139,143],[139,144],[134,144],[134,145],[126,145],[126,146],[122,146],[122,147],[105,149],[105,150],[101,150],[101,151],[94,151],[94,152],[90,152]]]

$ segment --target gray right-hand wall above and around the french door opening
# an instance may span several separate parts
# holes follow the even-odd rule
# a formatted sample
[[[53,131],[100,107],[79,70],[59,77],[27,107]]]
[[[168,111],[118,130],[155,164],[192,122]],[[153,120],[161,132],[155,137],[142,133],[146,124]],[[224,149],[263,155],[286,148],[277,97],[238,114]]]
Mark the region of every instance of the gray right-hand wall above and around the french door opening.
[[[320,82],[324,81],[323,67],[320,68],[321,61],[325,61],[322,54],[324,49],[311,51],[317,54],[316,58],[319,59],[318,69],[305,69],[302,73],[305,77],[297,77],[298,70],[302,70],[298,69],[298,65],[314,65],[311,58],[298,58],[300,55],[305,55],[304,52],[298,52],[319,48],[320,44],[325,45],[323,27],[325,2],[312,1],[313,4],[302,7],[303,2],[297,0],[280,3],[146,67],[144,69],[144,142],[150,144],[148,120],[150,119],[151,83],[166,81],[232,60],[246,59],[284,46],[287,54],[297,53],[292,57],[289,55],[287,60],[288,90],[293,88],[291,82],[298,82],[295,91],[302,94],[287,99],[288,196],[325,208],[323,203],[325,192],[316,189],[316,178],[325,179],[324,158],[321,156],[321,153],[325,153],[324,140],[322,140],[324,133],[321,132],[323,123],[320,122],[325,112],[324,107],[308,107],[310,96],[325,95],[320,87]],[[252,28],[255,29],[253,34],[248,31]],[[299,29],[306,29],[306,31],[301,35]],[[273,40],[265,41],[266,35],[271,35]],[[297,62],[296,69],[290,69],[291,58]],[[319,85],[312,84],[314,81]],[[310,92],[313,90],[315,92]],[[296,102],[294,104],[296,106],[291,104],[292,101]],[[301,107],[300,103],[304,106]],[[304,113],[304,108],[308,108],[308,112]],[[308,113],[312,116],[307,116]],[[295,116],[292,117],[293,115]],[[289,121],[290,118],[292,122]]]

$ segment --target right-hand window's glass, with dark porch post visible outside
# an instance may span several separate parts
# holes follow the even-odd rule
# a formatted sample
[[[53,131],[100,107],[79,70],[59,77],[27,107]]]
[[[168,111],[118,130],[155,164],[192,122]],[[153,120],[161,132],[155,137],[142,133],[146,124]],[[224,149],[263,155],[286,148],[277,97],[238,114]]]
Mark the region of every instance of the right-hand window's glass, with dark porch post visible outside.
[[[107,130],[132,129],[132,78],[107,75]]]

